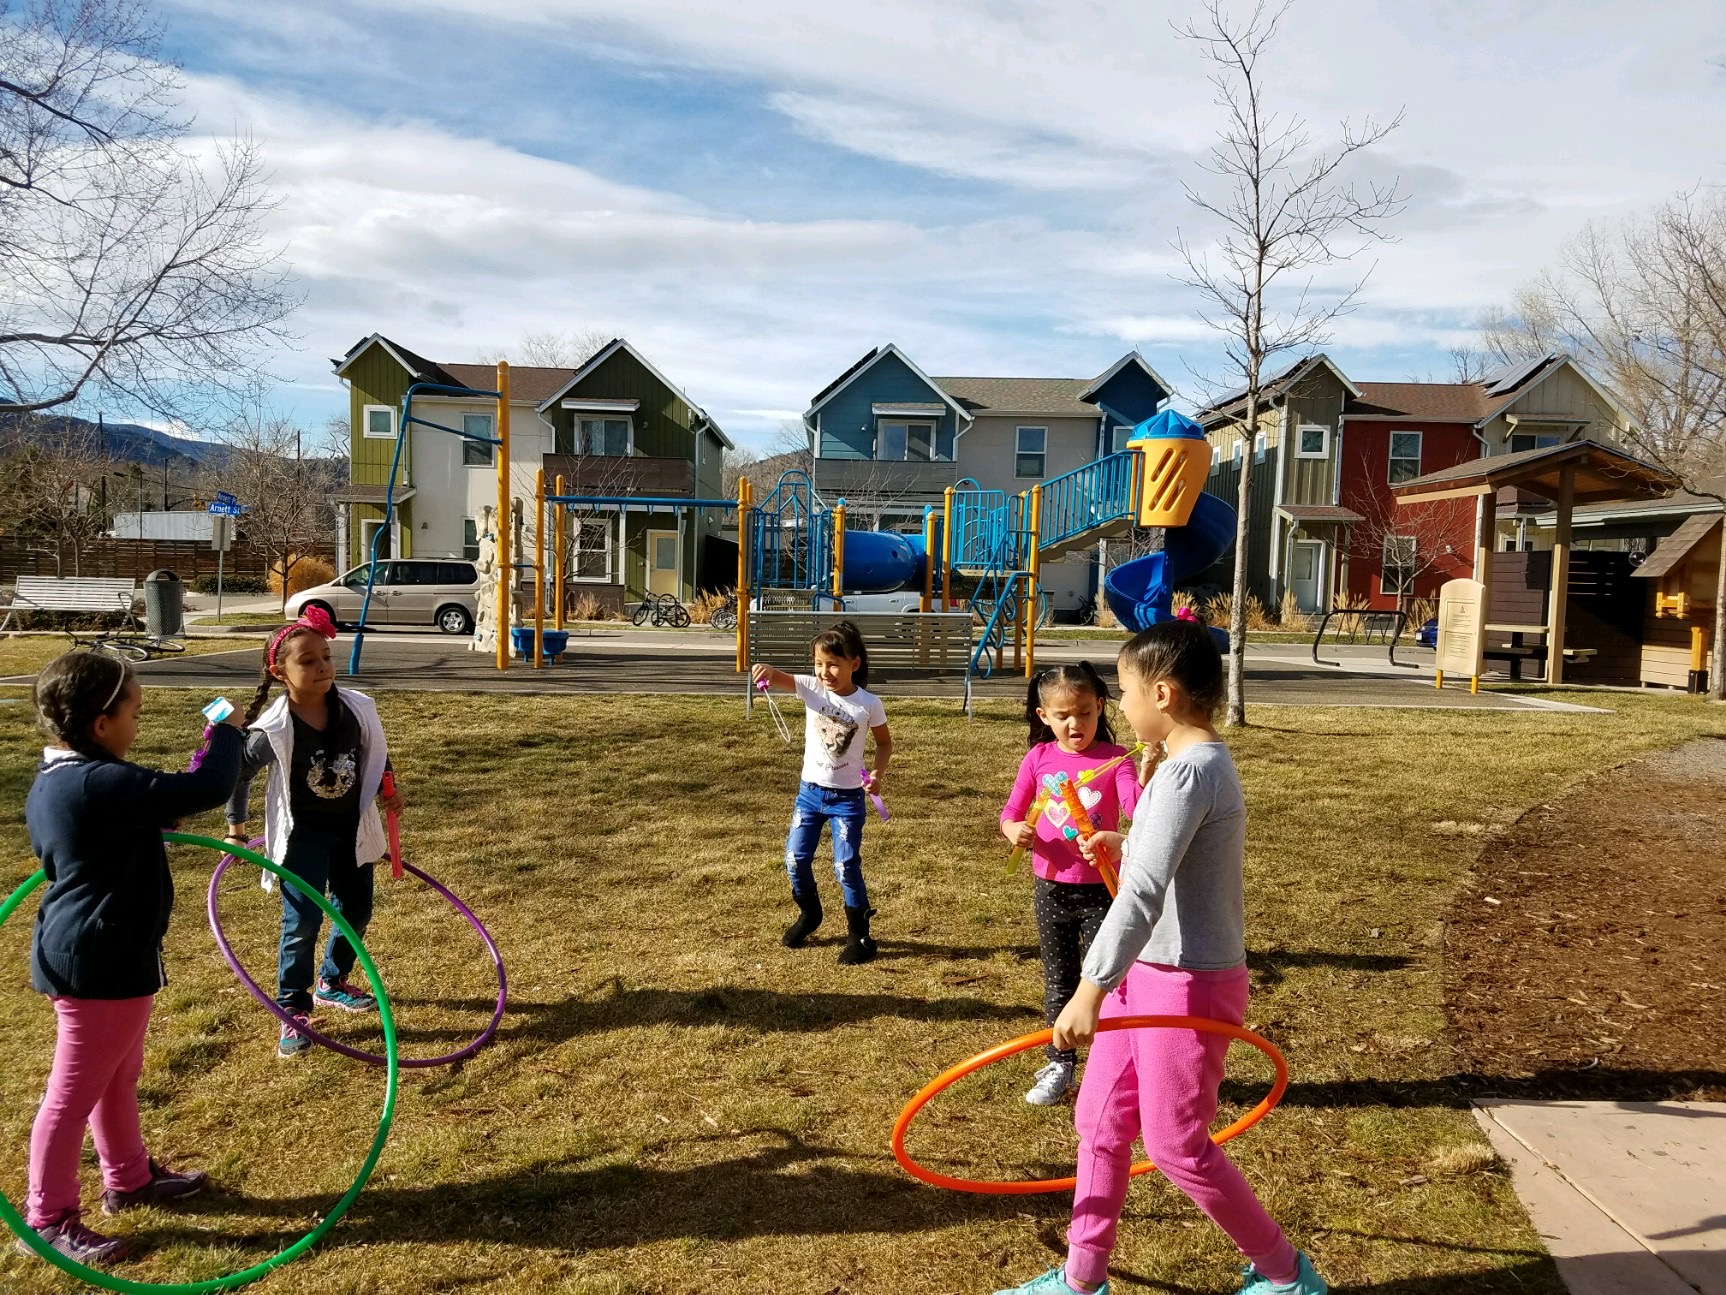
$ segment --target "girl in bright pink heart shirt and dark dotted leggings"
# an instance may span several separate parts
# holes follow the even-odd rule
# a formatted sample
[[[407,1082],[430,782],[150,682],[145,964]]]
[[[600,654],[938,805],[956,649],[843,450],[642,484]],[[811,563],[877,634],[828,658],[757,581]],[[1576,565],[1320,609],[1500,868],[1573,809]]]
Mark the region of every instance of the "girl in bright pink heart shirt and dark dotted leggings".
[[[1015,848],[1032,851],[1043,1010],[1051,1026],[1079,988],[1079,967],[1108,913],[1110,894],[1103,875],[1079,853],[1079,843],[1067,839],[1068,813],[1060,798],[1049,796],[1036,824],[1025,820],[1051,774],[1065,774],[1077,782],[1084,770],[1127,755],[1115,744],[1106,710],[1108,684],[1089,661],[1037,673],[1025,696],[1030,749],[1001,810],[1001,834]],[[1139,799],[1139,772],[1131,760],[1122,760],[1110,774],[1080,786],[1079,798],[1091,822],[1099,831],[1113,832],[1122,813],[1131,815]],[[1074,1086],[1077,1055],[1053,1045],[1048,1055],[1036,1086],[1025,1093],[1025,1100],[1037,1107],[1055,1105]]]

